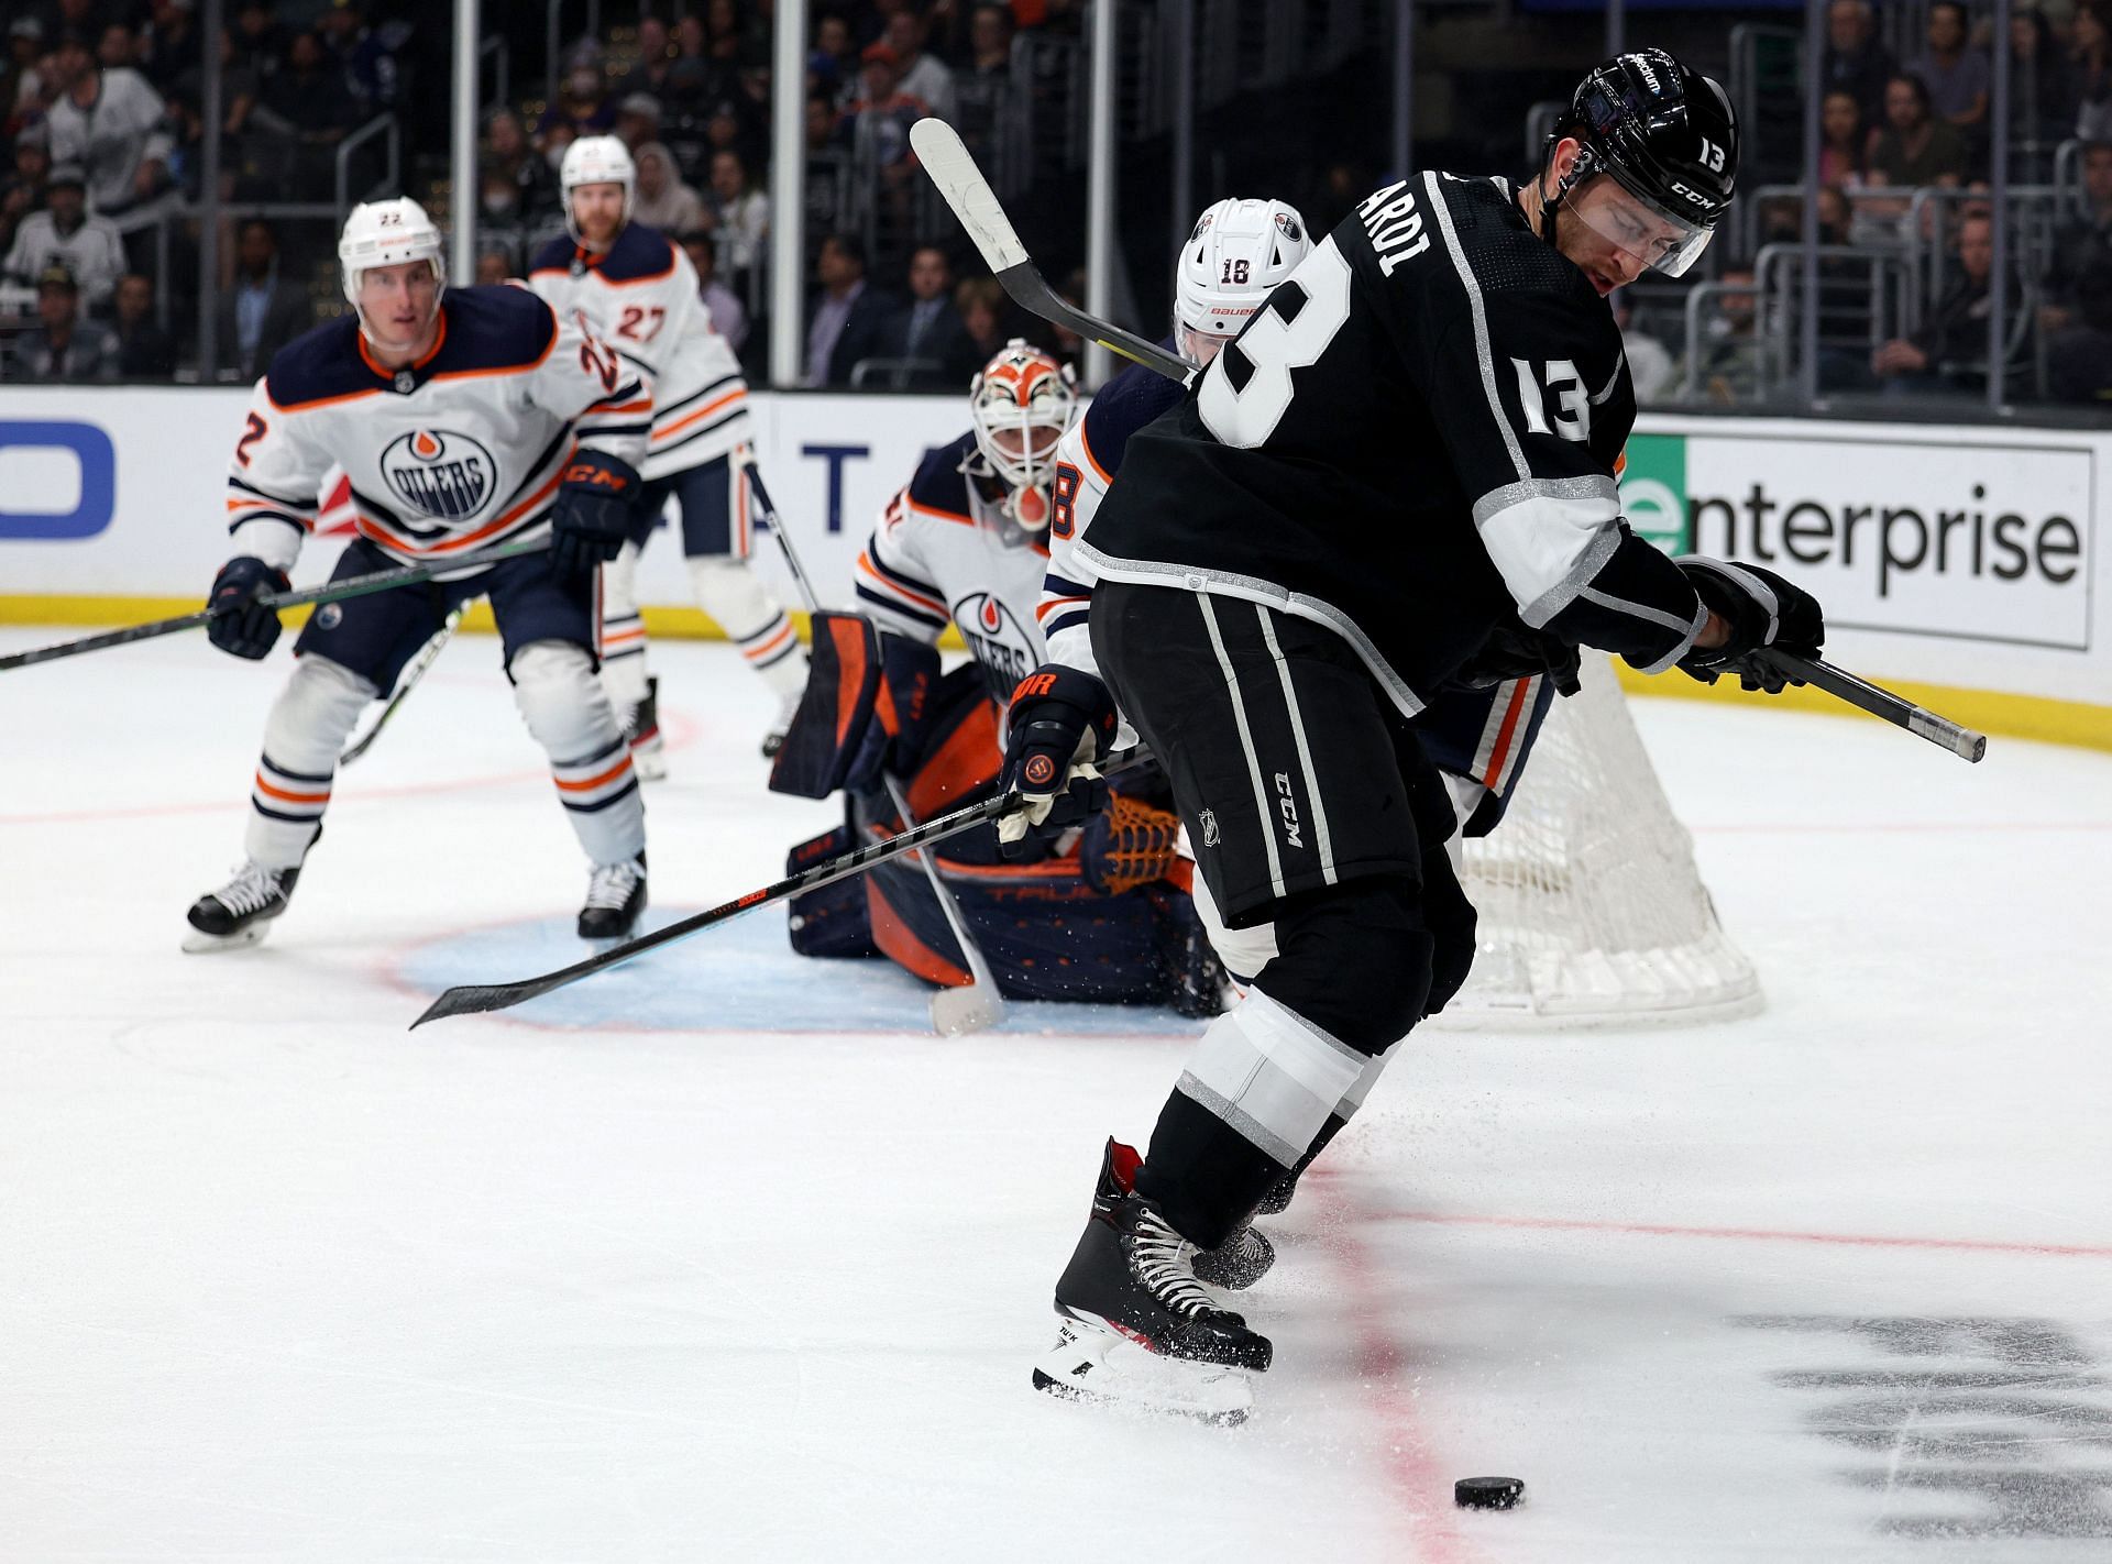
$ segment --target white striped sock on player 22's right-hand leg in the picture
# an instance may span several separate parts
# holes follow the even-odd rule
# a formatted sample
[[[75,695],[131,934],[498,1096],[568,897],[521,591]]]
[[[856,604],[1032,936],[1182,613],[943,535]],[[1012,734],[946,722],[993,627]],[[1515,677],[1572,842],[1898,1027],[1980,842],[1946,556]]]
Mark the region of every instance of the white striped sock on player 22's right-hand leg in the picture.
[[[585,648],[530,642],[513,654],[513,703],[549,756],[558,800],[589,863],[644,853],[646,802],[608,692]]]

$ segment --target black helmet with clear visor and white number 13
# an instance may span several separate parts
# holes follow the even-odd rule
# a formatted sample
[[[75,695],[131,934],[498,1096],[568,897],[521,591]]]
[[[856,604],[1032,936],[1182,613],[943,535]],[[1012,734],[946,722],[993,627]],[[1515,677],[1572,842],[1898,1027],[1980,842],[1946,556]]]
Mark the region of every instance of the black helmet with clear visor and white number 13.
[[[1662,49],[1635,49],[1578,82],[1548,137],[1550,154],[1563,137],[1584,150],[1544,201],[1546,236],[1554,209],[1605,173],[1671,226],[1652,266],[1685,272],[1738,186],[1738,116],[1723,89]]]

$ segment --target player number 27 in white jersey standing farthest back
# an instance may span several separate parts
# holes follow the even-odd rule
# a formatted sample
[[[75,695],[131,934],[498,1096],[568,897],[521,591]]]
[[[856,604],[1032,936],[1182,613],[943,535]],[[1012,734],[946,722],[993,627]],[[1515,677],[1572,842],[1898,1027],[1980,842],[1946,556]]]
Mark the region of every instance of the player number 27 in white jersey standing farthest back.
[[[741,648],[777,694],[762,743],[775,754],[807,684],[792,621],[750,568],[746,447],[748,384],[733,348],[712,329],[697,268],[682,247],[631,222],[638,171],[612,135],[587,135],[564,152],[558,182],[570,239],[553,239],[528,266],[528,287],[560,314],[583,310],[627,363],[653,378],[653,443],[631,534],[602,572],[602,678],[631,737],[644,777],[665,775],[659,688],[646,673],[646,627],[638,614],[638,551],[667,498],[682,507],[682,553],[697,602]]]

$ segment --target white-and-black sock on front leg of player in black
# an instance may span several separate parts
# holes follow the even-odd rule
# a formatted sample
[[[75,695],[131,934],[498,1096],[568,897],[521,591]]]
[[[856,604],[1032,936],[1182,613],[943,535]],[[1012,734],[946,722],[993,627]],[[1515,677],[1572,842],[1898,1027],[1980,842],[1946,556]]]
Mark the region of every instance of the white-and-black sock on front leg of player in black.
[[[1257,988],[1198,1038],[1136,1190],[1181,1237],[1214,1250],[1299,1163],[1364,1064]]]

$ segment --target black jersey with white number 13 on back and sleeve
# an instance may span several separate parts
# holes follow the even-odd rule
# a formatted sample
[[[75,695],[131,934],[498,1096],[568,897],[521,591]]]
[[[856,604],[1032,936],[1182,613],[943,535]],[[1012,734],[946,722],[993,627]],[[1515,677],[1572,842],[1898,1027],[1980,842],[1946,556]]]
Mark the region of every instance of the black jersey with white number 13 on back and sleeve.
[[[1079,551],[1343,635],[1415,716],[1516,610],[1671,667],[1706,623],[1620,517],[1620,329],[1500,179],[1371,194],[1138,431]]]

